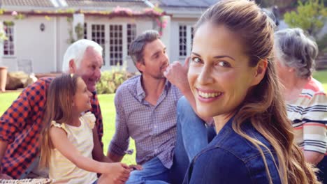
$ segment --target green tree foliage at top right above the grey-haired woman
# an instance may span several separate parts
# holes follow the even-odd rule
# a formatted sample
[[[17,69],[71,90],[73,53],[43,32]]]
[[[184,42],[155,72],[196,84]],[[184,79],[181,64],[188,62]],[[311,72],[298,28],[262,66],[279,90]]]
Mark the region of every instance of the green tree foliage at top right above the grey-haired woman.
[[[324,26],[326,15],[324,1],[308,0],[303,3],[299,0],[296,11],[285,13],[284,20],[289,26],[300,27],[311,36],[316,36]]]

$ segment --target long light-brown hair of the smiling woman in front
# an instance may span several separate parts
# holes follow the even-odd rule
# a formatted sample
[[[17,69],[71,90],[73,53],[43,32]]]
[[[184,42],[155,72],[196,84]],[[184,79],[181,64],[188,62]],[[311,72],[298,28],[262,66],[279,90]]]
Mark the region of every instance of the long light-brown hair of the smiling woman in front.
[[[269,183],[273,181],[263,154],[263,148],[267,151],[269,148],[242,131],[241,125],[245,121],[250,121],[273,146],[282,183],[319,183],[314,169],[305,162],[302,151],[294,142],[293,127],[287,118],[272,59],[275,29],[273,20],[254,1],[221,0],[203,13],[194,31],[205,22],[224,25],[237,33],[245,46],[245,53],[249,56],[249,66],[256,66],[262,59],[268,61],[265,76],[248,91],[240,110],[235,114],[233,130],[258,148],[265,163]],[[270,155],[274,158],[271,151]]]

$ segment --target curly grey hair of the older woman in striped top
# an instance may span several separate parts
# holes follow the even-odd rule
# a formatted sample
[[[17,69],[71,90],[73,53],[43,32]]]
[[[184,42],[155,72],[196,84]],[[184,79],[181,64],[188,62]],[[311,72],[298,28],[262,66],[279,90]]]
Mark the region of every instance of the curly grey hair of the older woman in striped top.
[[[275,54],[284,66],[295,68],[296,75],[307,78],[314,71],[318,46],[302,29],[283,29],[275,33]]]

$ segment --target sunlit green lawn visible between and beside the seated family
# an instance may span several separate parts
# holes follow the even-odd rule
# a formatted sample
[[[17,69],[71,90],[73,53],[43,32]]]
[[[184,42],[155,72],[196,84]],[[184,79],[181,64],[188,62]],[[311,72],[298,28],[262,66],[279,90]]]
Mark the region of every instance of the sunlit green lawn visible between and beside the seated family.
[[[325,91],[327,91],[327,70],[322,70],[314,72],[314,78],[319,80],[323,85]],[[4,111],[11,105],[13,100],[17,98],[20,92],[12,93],[0,93],[0,114],[3,114]],[[103,144],[104,144],[104,153],[108,150],[108,144],[112,135],[115,133],[115,105],[113,98],[115,94],[105,94],[99,95],[99,101],[101,105],[101,111],[103,115],[103,126],[104,126],[104,135],[103,135]],[[133,155],[125,155],[123,162],[126,164],[135,163],[135,146],[134,142],[131,140],[130,148],[134,149]]]

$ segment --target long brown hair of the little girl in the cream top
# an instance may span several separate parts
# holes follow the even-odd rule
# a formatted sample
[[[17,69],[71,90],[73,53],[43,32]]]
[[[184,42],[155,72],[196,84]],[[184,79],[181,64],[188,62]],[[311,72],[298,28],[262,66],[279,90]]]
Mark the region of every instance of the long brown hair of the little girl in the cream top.
[[[49,167],[51,149],[54,148],[50,139],[51,122],[65,123],[71,120],[73,95],[76,92],[78,78],[78,75],[61,75],[50,83],[40,139],[40,167]]]

